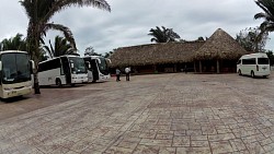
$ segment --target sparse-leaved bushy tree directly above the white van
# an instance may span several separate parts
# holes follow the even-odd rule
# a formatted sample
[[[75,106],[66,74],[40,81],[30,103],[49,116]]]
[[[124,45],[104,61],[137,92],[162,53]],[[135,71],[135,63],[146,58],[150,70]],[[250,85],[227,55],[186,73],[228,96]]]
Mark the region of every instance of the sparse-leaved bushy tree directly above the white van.
[[[249,27],[236,35],[236,40],[247,51],[253,52],[264,51],[267,39],[269,33],[262,32],[260,27]]]

